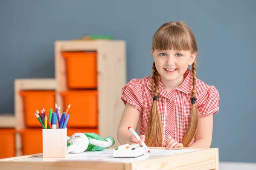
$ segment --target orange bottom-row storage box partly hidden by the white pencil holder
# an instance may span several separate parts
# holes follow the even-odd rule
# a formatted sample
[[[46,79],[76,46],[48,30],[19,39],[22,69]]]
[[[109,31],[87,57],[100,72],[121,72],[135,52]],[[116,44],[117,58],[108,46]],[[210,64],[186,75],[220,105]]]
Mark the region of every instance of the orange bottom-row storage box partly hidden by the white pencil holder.
[[[35,116],[35,115],[34,115]],[[23,155],[43,153],[43,130],[23,129],[19,130]]]

